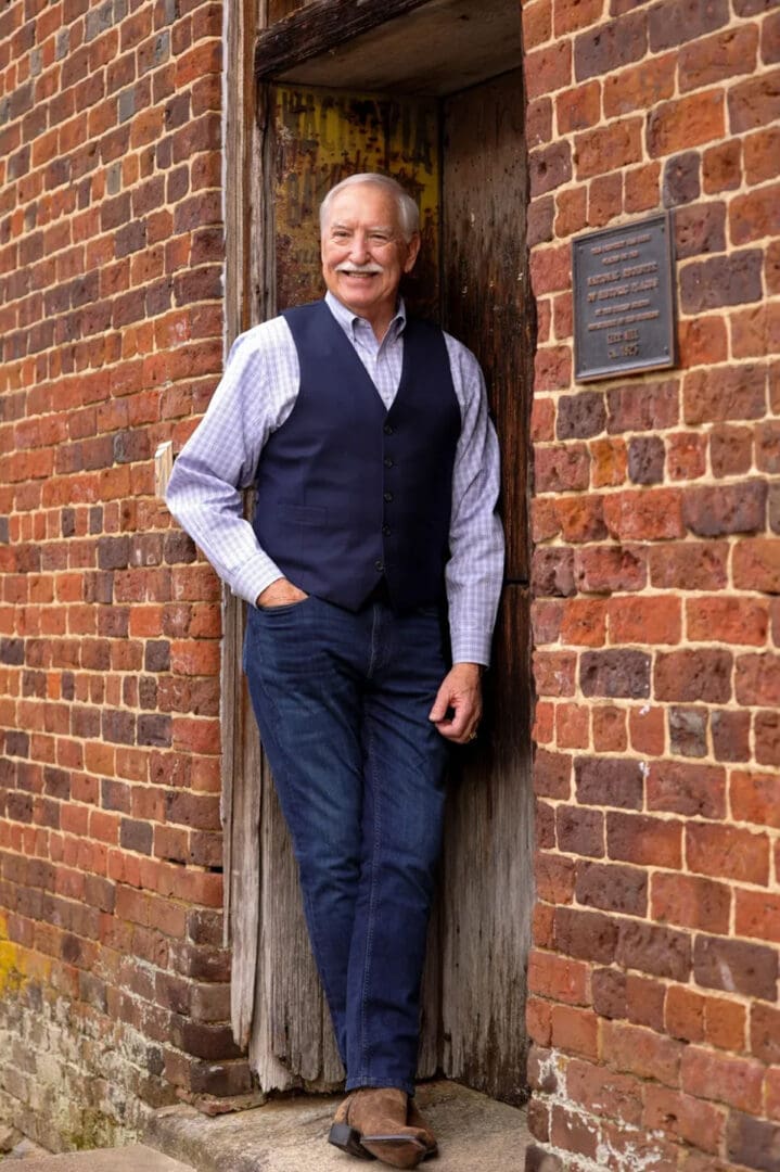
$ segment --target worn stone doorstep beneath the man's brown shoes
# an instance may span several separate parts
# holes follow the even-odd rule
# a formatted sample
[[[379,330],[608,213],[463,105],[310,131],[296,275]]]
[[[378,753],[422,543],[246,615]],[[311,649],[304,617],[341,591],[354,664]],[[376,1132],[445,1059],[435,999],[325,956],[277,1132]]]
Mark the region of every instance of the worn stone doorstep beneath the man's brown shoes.
[[[426,1083],[417,1097],[440,1149],[439,1158],[424,1165],[426,1172],[522,1172],[531,1142],[525,1111],[449,1082]],[[190,1106],[163,1108],[145,1139],[197,1172],[358,1172],[369,1165],[327,1143],[338,1102],[314,1096],[273,1099],[215,1118]]]

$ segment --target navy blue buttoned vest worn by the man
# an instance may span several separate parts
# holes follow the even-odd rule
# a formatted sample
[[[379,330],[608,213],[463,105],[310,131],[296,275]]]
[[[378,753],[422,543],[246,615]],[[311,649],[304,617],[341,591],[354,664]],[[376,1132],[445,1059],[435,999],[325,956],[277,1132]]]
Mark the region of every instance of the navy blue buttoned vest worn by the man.
[[[388,411],[324,301],[285,319],[301,383],[260,456],[258,540],[296,586],[347,609],[383,578],[396,611],[439,601],[460,435],[442,331],[406,321]]]

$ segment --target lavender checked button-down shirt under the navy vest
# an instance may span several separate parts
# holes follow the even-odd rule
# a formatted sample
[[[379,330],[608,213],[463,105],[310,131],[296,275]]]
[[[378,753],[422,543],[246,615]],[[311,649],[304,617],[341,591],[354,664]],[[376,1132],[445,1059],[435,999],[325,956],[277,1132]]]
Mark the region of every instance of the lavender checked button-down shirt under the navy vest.
[[[401,382],[403,301],[382,342],[368,321],[330,293],[326,304],[390,408]],[[445,572],[452,659],[487,665],[504,570],[504,532],[494,511],[498,442],[475,357],[454,338],[444,336],[461,416]],[[293,410],[299,383],[297,352],[283,318],[241,334],[205,416],[173,465],[165,497],[220,578],[252,605],[282,573],[244,517],[241,490],[254,482],[268,436]]]

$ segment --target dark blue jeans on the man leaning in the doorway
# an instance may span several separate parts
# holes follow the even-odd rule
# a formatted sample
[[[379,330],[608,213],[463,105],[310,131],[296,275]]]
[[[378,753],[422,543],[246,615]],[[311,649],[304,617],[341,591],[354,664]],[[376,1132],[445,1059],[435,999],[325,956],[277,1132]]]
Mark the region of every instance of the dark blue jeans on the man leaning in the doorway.
[[[347,1088],[413,1092],[447,742],[433,609],[249,608],[244,667],[293,838]]]

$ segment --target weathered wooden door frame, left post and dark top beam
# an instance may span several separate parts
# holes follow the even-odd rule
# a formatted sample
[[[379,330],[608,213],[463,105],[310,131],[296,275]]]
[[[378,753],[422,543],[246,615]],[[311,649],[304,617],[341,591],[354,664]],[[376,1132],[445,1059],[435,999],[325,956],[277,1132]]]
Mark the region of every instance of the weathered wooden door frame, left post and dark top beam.
[[[226,16],[225,117],[225,332],[230,345],[249,326],[275,312],[273,206],[264,198],[262,177],[273,173],[265,121],[264,82],[321,56],[349,39],[430,5],[432,0],[316,0],[272,27],[264,27],[267,2],[240,0]],[[228,6],[231,7],[231,6]],[[518,12],[518,27],[520,14]],[[533,305],[533,301],[529,300]],[[531,353],[531,352],[528,352]],[[533,359],[531,357],[531,362]],[[235,1041],[246,1045],[253,1018],[262,1015],[258,980],[260,878],[235,868],[238,858],[260,857],[261,758],[255,748],[241,672],[244,604],[223,595],[223,797],[226,946],[233,949],[231,984]],[[248,879],[248,886],[247,886]],[[252,887],[252,884],[255,884]],[[260,1003],[256,999],[260,997]],[[256,1028],[256,1027],[255,1027]],[[272,1062],[273,1065],[273,1062]],[[280,1075],[281,1077],[281,1075]]]

